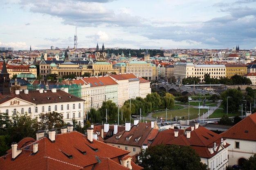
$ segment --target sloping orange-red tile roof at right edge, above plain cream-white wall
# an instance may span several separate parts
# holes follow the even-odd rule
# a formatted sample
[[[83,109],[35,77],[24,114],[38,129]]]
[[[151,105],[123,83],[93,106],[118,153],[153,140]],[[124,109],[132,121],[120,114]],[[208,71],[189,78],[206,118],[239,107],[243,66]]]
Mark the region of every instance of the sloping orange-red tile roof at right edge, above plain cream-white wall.
[[[256,113],[245,117],[220,135],[225,138],[256,141]]]

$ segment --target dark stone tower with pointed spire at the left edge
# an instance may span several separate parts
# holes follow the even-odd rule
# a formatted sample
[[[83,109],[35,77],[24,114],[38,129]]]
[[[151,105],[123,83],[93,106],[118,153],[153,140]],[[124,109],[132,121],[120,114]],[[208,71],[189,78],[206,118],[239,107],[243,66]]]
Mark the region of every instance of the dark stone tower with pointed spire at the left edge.
[[[3,95],[10,94],[10,78],[7,73],[5,61],[3,61],[2,72],[0,73],[0,93]]]

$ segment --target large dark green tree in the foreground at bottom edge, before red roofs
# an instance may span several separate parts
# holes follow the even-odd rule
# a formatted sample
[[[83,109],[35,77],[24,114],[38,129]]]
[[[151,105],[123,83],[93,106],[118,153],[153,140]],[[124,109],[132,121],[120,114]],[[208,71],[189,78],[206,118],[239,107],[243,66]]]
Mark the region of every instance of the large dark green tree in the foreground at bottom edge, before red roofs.
[[[139,154],[139,162],[144,170],[207,170],[191,146],[150,146]]]

